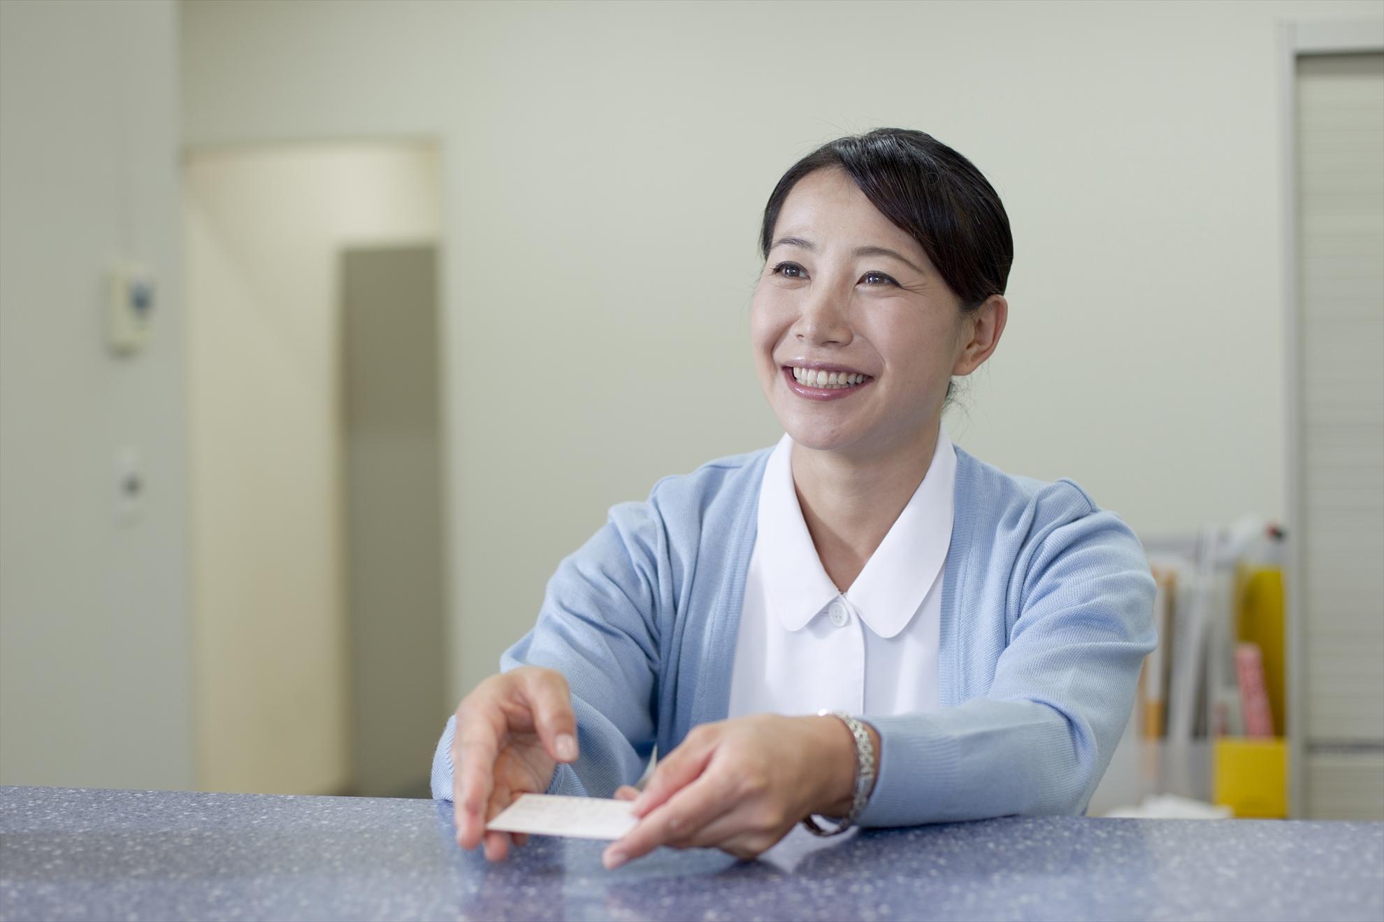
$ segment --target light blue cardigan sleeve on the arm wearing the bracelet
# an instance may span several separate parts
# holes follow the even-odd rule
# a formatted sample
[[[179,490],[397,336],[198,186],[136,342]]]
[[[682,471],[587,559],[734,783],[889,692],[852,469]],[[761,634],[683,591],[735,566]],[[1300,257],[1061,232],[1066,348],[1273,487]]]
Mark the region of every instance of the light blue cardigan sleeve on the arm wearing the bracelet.
[[[1086,809],[1157,640],[1154,583],[1117,516],[1064,481],[1050,489],[1060,510],[1016,574],[1019,617],[987,694],[933,713],[866,717],[880,735],[880,767],[861,825]]]

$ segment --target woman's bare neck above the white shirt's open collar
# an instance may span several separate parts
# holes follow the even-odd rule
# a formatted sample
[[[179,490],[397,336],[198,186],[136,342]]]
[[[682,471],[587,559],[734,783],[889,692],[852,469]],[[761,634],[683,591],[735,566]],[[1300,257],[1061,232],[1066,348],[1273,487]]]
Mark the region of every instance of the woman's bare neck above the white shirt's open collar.
[[[938,420],[940,422],[940,420]],[[938,424],[868,459],[793,445],[797,505],[822,568],[846,592],[865,570],[937,451]]]

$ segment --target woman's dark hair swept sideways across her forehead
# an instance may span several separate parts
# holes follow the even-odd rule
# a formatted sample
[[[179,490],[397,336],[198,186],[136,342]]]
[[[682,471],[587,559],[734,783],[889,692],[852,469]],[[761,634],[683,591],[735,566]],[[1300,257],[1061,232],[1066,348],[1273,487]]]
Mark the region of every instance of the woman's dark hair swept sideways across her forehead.
[[[880,214],[918,241],[963,311],[1005,293],[1014,241],[999,195],[970,160],[930,134],[907,129],[837,138],[789,167],[764,206],[765,258],[787,194],[804,176],[826,167],[846,170]]]

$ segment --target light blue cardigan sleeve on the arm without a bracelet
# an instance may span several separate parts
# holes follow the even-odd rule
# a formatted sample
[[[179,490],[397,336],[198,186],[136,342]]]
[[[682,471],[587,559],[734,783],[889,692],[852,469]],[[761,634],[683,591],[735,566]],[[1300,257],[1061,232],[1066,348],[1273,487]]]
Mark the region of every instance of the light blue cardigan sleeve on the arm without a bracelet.
[[[501,672],[545,666],[572,691],[580,758],[558,766],[548,793],[609,798],[639,780],[653,752],[657,611],[671,596],[667,536],[652,502],[621,503],[548,581],[533,630],[505,651]],[[451,800],[447,720],[433,755],[433,798]]]

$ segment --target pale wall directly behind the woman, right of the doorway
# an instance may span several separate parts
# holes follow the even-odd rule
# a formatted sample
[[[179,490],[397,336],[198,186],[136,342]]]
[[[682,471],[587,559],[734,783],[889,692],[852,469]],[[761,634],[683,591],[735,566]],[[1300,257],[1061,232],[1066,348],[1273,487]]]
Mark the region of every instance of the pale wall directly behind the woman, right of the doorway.
[[[1012,216],[958,444],[1145,532],[1283,516],[1275,26],[1374,8],[185,4],[184,137],[443,138],[459,695],[608,505],[775,438],[757,218],[847,131],[933,133]]]

